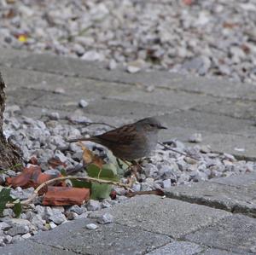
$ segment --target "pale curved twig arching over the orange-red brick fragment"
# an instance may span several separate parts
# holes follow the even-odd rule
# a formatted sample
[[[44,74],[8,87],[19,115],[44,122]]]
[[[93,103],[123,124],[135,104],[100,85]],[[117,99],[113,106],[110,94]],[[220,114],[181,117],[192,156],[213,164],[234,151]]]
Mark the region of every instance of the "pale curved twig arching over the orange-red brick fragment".
[[[23,200],[20,201],[21,205],[28,205],[30,202],[32,202],[32,200],[34,200],[36,197],[38,197],[38,192],[40,189],[44,188],[45,186],[49,185],[50,183],[55,183],[56,181],[63,181],[63,180],[84,180],[90,183],[104,183],[104,184],[113,184],[122,188],[130,188],[129,185],[124,184],[124,183],[118,183],[118,182],[113,182],[113,181],[108,181],[108,180],[102,180],[102,179],[97,179],[97,178],[93,178],[93,177],[56,177],[54,179],[50,179],[49,181],[46,181],[42,184],[40,184],[38,186],[38,188],[36,188],[32,194],[32,196],[30,198],[28,198],[27,200]],[[6,207],[13,207],[15,206],[15,203],[8,203],[6,204]]]

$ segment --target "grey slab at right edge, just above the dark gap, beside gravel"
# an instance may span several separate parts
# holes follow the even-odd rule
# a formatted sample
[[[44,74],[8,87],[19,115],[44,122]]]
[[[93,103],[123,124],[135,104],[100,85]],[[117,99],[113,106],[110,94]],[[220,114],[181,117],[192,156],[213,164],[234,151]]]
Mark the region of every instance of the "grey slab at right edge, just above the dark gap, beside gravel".
[[[252,188],[203,182],[168,188],[166,196],[256,217],[256,189]]]

